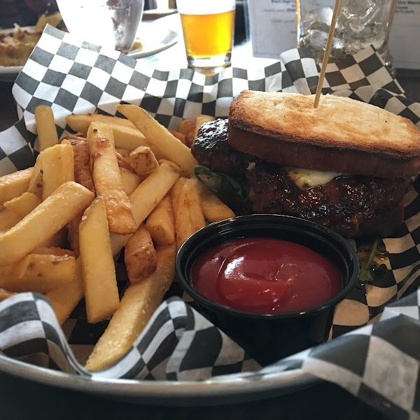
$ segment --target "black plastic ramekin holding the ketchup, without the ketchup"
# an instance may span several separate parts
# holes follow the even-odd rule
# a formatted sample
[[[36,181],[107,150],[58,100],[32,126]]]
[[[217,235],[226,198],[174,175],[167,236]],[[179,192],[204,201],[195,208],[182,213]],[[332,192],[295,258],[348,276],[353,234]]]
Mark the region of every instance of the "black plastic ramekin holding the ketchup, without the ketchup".
[[[197,258],[215,246],[244,237],[282,239],[313,249],[337,266],[342,290],[316,306],[276,314],[239,311],[197,293],[190,283]],[[253,214],[212,223],[192,235],[179,250],[176,272],[201,313],[260,364],[267,365],[328,338],[335,305],[356,286],[359,262],[349,242],[330,229],[290,216]]]

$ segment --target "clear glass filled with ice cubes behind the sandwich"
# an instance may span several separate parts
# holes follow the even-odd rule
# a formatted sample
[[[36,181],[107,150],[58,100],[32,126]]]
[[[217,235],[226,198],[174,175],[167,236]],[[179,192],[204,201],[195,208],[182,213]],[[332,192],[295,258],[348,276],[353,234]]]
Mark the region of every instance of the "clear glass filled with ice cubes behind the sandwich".
[[[310,48],[318,63],[323,59],[334,4],[334,0],[296,0],[298,45]],[[373,45],[390,64],[388,37],[394,6],[395,0],[342,0],[330,61]]]

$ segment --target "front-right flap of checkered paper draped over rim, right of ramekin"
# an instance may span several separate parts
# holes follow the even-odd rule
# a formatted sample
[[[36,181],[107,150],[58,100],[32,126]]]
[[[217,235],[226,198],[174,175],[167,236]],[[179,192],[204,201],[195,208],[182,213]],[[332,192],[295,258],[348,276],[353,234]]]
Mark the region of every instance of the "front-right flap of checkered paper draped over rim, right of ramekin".
[[[297,353],[258,373],[295,370],[313,374],[342,386],[391,419],[419,419],[419,314],[417,290],[389,305],[379,322]]]

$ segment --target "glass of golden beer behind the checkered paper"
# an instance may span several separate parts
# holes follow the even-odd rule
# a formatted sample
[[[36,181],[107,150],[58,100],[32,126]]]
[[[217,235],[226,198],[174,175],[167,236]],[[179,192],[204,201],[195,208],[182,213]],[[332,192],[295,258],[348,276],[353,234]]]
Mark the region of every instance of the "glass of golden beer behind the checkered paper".
[[[188,67],[217,70],[230,65],[235,0],[176,0]]]

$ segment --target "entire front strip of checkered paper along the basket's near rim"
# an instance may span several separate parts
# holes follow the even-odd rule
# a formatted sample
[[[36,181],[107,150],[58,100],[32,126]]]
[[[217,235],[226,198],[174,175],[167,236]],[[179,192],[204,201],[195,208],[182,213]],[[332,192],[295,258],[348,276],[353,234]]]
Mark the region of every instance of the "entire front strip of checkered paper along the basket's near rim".
[[[420,290],[388,306],[379,322],[262,369],[177,297],[160,305],[123,358],[99,372],[76,361],[42,295],[21,293],[1,302],[0,320],[1,354],[51,369],[101,378],[214,377],[215,382],[281,380],[282,372],[293,370],[332,381],[393,419],[419,418]]]

